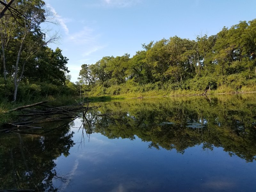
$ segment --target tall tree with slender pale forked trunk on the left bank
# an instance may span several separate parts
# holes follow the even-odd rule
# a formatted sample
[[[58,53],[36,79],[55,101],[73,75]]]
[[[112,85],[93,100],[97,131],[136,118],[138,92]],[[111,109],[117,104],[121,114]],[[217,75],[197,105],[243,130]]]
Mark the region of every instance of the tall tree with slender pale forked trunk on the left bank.
[[[44,1],[19,0],[13,2],[12,5],[16,7],[17,12],[23,17],[11,13],[13,17],[6,14],[1,18],[1,44],[4,79],[6,81],[7,73],[13,78],[14,102],[17,98],[18,86],[23,78],[28,60],[46,44],[55,41],[57,35],[55,34],[46,40],[46,32],[40,28],[40,24],[45,22],[50,15],[44,8]],[[6,11],[6,13],[9,12],[11,11]],[[10,46],[10,44],[12,46]],[[14,65],[12,73],[6,70],[6,52],[10,52],[12,56],[15,55],[16,57],[16,64]],[[10,67],[12,67],[12,64],[9,68]]]

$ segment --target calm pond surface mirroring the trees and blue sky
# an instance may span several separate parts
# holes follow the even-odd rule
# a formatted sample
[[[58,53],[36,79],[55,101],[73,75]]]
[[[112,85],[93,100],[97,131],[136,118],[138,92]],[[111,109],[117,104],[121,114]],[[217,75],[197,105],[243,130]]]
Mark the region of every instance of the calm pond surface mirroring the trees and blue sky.
[[[91,105],[90,127],[2,133],[0,189],[255,191],[256,94]]]

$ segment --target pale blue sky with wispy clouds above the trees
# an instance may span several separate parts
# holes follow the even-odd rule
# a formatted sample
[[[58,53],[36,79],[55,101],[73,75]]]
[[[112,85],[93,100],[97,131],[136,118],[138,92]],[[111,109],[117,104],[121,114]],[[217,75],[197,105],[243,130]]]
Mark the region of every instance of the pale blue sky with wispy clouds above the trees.
[[[142,50],[141,44],[218,33],[256,18],[255,0],[45,0],[56,14],[58,44],[76,82],[82,64]]]

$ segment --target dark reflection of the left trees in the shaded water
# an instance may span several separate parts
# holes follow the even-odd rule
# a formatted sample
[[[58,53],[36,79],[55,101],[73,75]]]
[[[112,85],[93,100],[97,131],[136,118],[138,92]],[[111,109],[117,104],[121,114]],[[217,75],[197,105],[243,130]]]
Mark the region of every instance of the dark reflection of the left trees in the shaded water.
[[[49,134],[5,134],[0,139],[0,189],[57,191],[53,180],[68,182],[55,169],[57,157],[68,156],[74,145],[69,126]]]

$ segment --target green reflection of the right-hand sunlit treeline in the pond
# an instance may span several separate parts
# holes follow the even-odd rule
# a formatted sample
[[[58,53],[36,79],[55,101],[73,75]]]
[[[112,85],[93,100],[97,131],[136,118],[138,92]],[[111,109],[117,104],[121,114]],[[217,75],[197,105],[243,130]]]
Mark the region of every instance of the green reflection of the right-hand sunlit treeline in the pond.
[[[92,132],[109,139],[134,140],[136,135],[149,142],[149,148],[179,153],[200,144],[203,150],[222,147],[231,156],[251,162],[256,158],[255,96],[112,101],[88,118],[94,122]]]

